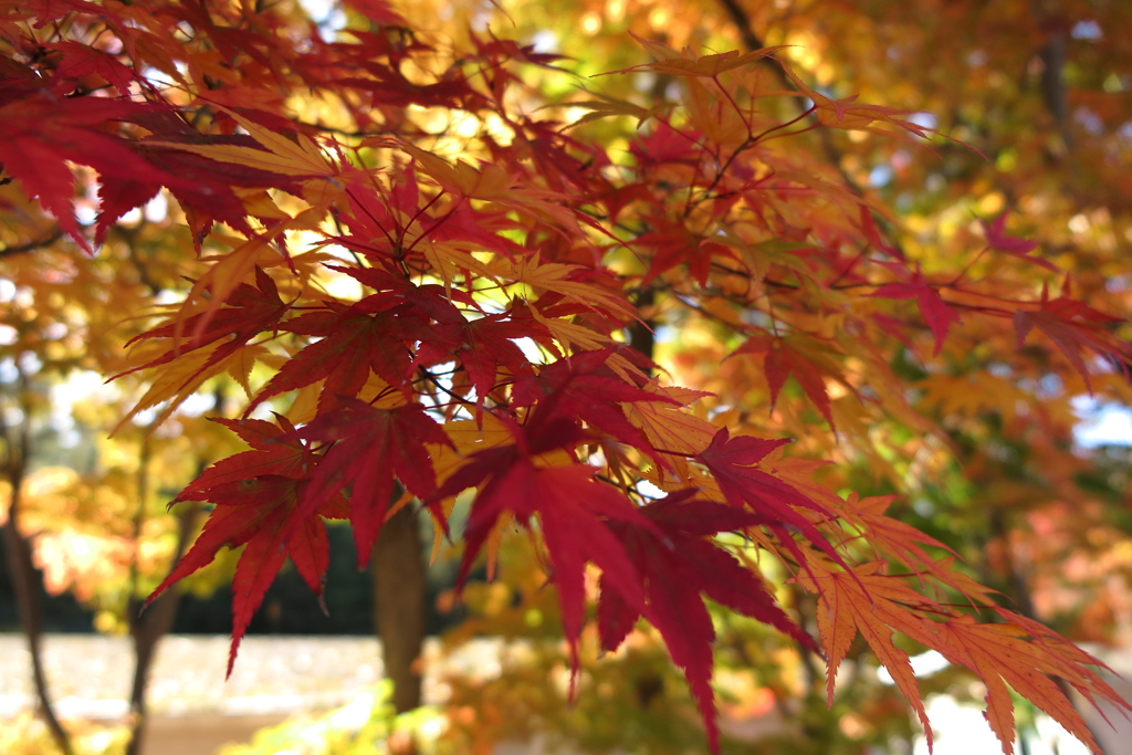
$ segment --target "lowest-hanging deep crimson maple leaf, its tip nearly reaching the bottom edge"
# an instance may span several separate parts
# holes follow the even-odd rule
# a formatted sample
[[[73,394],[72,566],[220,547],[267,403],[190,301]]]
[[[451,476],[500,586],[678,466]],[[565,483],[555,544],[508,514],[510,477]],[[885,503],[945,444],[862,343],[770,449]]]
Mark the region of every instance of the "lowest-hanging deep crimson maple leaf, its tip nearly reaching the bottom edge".
[[[700,703],[707,744],[715,753],[719,728],[711,688],[711,643],[715,630],[701,593],[773,626],[804,647],[818,651],[814,640],[779,607],[762,580],[711,540],[719,532],[741,531],[769,521],[734,506],[693,499],[694,495],[692,490],[674,494],[642,508],[654,524],[652,529],[620,522],[611,523],[610,529],[625,543],[644,578],[644,615],[663,637],[672,662],[684,669],[692,694]],[[626,603],[618,591],[607,589],[606,575],[600,587],[601,645],[614,651],[642,612]]]

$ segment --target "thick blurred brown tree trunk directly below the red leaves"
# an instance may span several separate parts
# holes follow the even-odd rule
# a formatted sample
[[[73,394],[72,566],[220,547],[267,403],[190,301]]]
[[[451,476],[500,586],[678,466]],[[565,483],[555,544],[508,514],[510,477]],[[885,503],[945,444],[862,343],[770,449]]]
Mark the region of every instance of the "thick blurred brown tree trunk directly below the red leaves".
[[[424,642],[424,556],[417,511],[404,506],[381,526],[374,544],[374,626],[381,640],[385,676],[393,681],[397,713],[421,704]]]

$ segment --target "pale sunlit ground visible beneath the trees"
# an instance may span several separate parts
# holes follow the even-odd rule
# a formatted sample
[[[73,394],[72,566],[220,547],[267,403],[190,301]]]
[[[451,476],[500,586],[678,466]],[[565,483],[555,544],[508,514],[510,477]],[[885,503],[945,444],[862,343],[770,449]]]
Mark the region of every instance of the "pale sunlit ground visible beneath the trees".
[[[174,635],[162,641],[151,675],[148,703],[153,718],[144,755],[213,755],[220,745],[247,741],[257,729],[290,715],[346,705],[372,692],[381,677],[380,651],[374,637],[246,637],[232,677],[225,681],[228,647],[229,638],[221,636]],[[1125,679],[1132,679],[1132,651],[1090,650]],[[429,641],[424,652],[426,702],[444,701],[445,685],[438,679],[441,675],[498,676],[506,652],[500,641],[479,640],[441,655],[439,642]],[[48,635],[43,658],[61,718],[112,722],[125,717],[134,662],[127,637]],[[1132,684],[1113,681],[1132,698]],[[0,726],[33,704],[24,638],[0,634]],[[936,698],[929,709],[937,732],[936,755],[998,752],[980,712],[958,707],[945,698]],[[1116,714],[1112,720],[1120,730],[1113,731],[1099,717],[1089,718],[1106,755],[1132,755],[1132,723]],[[775,724],[758,719],[732,721],[728,728],[735,735],[756,737]],[[1049,745],[1061,739],[1061,755],[1083,750],[1079,743],[1066,741],[1054,729],[1043,738]],[[1034,743],[1032,755],[1052,755],[1052,747],[1043,747],[1043,743]],[[926,747],[923,749],[926,753]],[[498,747],[497,755],[532,755],[540,750],[538,746],[511,744]]]

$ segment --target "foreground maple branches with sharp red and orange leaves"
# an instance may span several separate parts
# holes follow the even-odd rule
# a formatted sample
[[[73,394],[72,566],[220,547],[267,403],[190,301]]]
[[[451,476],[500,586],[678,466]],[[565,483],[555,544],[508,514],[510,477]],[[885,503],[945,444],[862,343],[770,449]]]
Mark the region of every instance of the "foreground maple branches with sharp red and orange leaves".
[[[941,380],[997,379],[986,362],[943,371],[978,344],[1012,349],[1000,358],[1026,376],[1127,395],[1127,302],[1079,293],[1061,274],[1070,254],[1037,254],[1013,208],[980,207],[983,238],[952,234],[963,263],[944,266],[861,190],[857,155],[830,160],[842,137],[972,162],[985,145],[807,83],[784,46],[680,53],[644,35],[652,62],[558,103],[577,113],[563,123],[525,86],[560,75],[556,55],[490,33],[451,46],[383,2],[345,5],[332,37],[293,3],[75,0],[0,17],[0,164],[18,218],[0,254],[91,255],[55,273],[68,283],[86,265],[134,267],[151,295],[104,308],[145,318],[89,328],[130,331],[125,358],[113,342],[92,360],[146,381],[123,427],[143,413],[158,427],[221,379],[246,393],[215,419],[249,449],[175,496],[214,507],[151,600],[242,546],[231,668],[288,558],[321,593],[324,518],[349,521],[365,563],[420,506],[438,543],[462,538],[462,582],[515,529],[538,542],[572,690],[597,567],[602,646],[640,617],[655,627],[712,748],[704,597],[821,647],[831,703],[860,635],[929,744],[893,633],[983,680],[1005,752],[1009,688],[1097,748],[1064,686],[1126,707],[1097,662],[998,607],[940,539],[886,515],[892,497],[842,492],[822,469],[864,461],[904,487],[893,458],[952,443],[909,396],[908,366],[955,401]],[[618,94],[642,76],[666,96]],[[119,221],[158,196],[179,222],[146,248]],[[685,334],[667,370],[666,328]],[[813,595],[816,638],[760,555]]]

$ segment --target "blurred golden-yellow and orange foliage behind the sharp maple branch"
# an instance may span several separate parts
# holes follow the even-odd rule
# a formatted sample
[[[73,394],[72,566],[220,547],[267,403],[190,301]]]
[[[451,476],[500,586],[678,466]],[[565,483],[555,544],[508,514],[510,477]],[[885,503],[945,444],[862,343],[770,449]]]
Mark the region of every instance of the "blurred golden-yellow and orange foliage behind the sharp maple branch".
[[[329,6],[307,8],[326,35],[348,18]],[[864,132],[807,143],[808,160],[897,211],[895,238],[926,272],[1015,275],[1020,290],[1040,288],[1038,271],[998,268],[1001,261],[969,254],[979,247],[978,218],[1009,212],[1013,232],[1039,240],[1040,256],[1067,271],[1053,285],[1071,286],[1101,310],[1132,307],[1132,3],[414,0],[404,10],[427,33],[457,44],[469,28],[490,28],[565,55],[563,71],[531,67],[525,81],[530,109],[554,104],[567,122],[582,115],[569,103],[591,98],[583,86],[645,106],[681,95],[678,83],[648,72],[590,78],[648,60],[631,34],[720,52],[790,45],[782,54],[821,92],[906,109],[953,139],[935,139],[931,149]],[[791,103],[781,98],[775,106]],[[608,118],[576,134],[611,145],[615,161],[618,154],[628,161],[634,127],[632,119]],[[91,221],[93,183],[88,197]],[[191,244],[164,201],[123,217],[94,259],[66,243],[0,252],[0,498],[10,499],[15,481],[22,527],[33,539],[50,595],[49,629],[127,632],[130,610],[183,547],[185,523],[199,525],[194,504],[168,511],[168,501],[207,463],[237,449],[231,434],[207,417],[237,411],[234,396],[247,375],[211,381],[153,432],[149,412],[108,437],[128,398],[146,386],[134,377],[103,386],[93,376],[118,371],[122,343],[143,325],[130,314],[151,295],[183,289],[179,257]],[[28,229],[41,239],[52,233],[49,220],[10,187],[0,187],[0,211],[9,250],[27,242],[22,234]],[[655,358],[674,381],[715,394],[703,402],[706,413],[769,409],[756,364],[724,361],[738,345],[730,337],[711,319],[689,317],[657,333]],[[967,324],[941,358],[925,360],[925,344],[909,343],[887,364],[912,384],[908,398],[945,428],[944,440],[925,438],[914,422],[877,421],[851,396],[831,392],[843,432],[834,437],[794,381],[773,421],[799,439],[798,455],[834,462],[824,472],[834,488],[902,494],[894,504],[900,517],[952,547],[1005,604],[1071,640],[1127,646],[1132,391],[1108,374],[1094,378],[1090,392],[1065,370],[1044,369],[1032,353],[1015,357],[1012,341],[1005,331]],[[1090,422],[1099,424],[1091,436]],[[353,569],[348,533],[332,527],[331,534],[329,618],[293,573],[284,574],[252,633],[372,632],[368,577]],[[453,556],[441,552],[431,572],[430,628],[447,630],[452,645],[474,636],[512,641],[495,672],[445,679],[444,707],[415,718],[395,723],[375,693],[361,713],[355,707],[285,724],[225,755],[267,755],[284,744],[290,752],[346,755],[372,752],[359,743],[378,740],[396,749],[391,732],[397,727],[435,752],[488,753],[497,741],[531,738],[594,753],[702,747],[695,707],[654,633],[638,630],[604,658],[586,635],[572,705],[557,602],[528,541],[505,540],[497,580],[471,584],[458,607],[451,592]],[[233,565],[230,554],[186,581],[174,632],[228,632]],[[775,577],[771,569],[766,576]],[[7,630],[16,628],[9,591],[0,574],[0,628]],[[787,584],[779,593],[813,628],[813,600]],[[863,643],[850,652],[826,709],[817,659],[746,619],[717,612],[714,620],[723,752],[911,752],[917,731],[907,705]],[[983,695],[953,669],[921,681],[925,693],[960,701]],[[35,735],[38,724],[20,721],[5,724],[0,749],[46,752],[50,738]],[[25,733],[12,739],[19,731]],[[75,738],[85,752],[114,752],[123,741],[106,731],[77,731]]]

